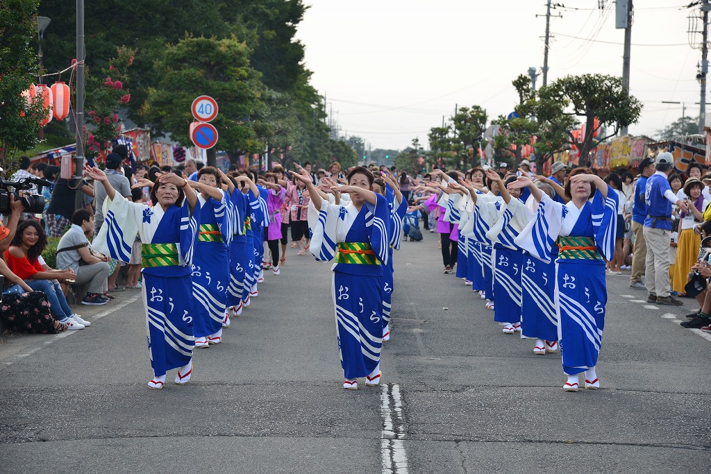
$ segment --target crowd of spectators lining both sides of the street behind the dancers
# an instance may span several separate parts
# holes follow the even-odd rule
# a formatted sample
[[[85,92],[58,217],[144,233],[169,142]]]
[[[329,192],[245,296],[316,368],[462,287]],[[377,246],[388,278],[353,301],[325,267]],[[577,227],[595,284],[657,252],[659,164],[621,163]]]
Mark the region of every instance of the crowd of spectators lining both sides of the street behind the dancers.
[[[125,146],[115,146],[105,159],[105,172],[112,187],[134,202],[148,203],[150,200],[150,189],[137,187],[139,179],[155,181],[156,173],[174,171],[197,181],[198,171],[203,167],[203,163],[187,160],[175,168],[137,163],[134,171],[125,164],[128,162],[127,154]],[[91,244],[92,236],[97,235],[105,220],[104,188],[94,187],[92,181],[87,179],[77,181],[61,178],[59,166],[31,163],[25,156],[18,164],[19,169],[12,176],[12,181],[35,176],[50,182],[50,185],[33,186],[27,191],[46,199],[42,215],[28,214],[20,202],[13,201],[12,212],[5,225],[0,227],[0,254],[4,256],[0,260],[0,274],[5,278],[4,309],[0,314],[7,323],[9,315],[16,312],[11,305],[26,304],[28,308],[38,308],[38,311],[24,316],[47,316],[46,323],[35,325],[35,330],[53,332],[85,328],[90,323],[73,313],[67,303],[68,294],[70,291],[80,291],[81,294],[75,295],[78,302],[103,305],[114,298],[112,293],[116,291],[140,289],[140,239],[137,237],[132,259],[122,271],[124,264],[100,254]],[[303,166],[294,163],[294,166],[305,169],[314,185],[322,182],[343,183],[348,171],[342,170],[336,161],[325,169],[314,169],[309,162]],[[523,161],[520,170],[528,172],[529,167],[530,163]],[[394,166],[387,169],[385,166],[370,164],[368,168],[375,173],[387,173],[390,178],[397,180],[410,207],[417,208],[406,219],[408,231],[414,225],[417,227],[415,235],[419,235],[419,220],[422,217],[424,230],[444,232],[437,225],[438,220],[441,220],[440,210],[436,206],[427,208],[418,205],[424,203],[432,195],[433,189],[437,188],[437,181],[441,179],[437,169],[412,175],[398,171]],[[497,168],[502,176],[513,174],[506,163]],[[237,173],[236,166],[232,166],[230,171]],[[470,176],[472,179],[483,180],[483,172],[479,174],[481,176],[474,176],[474,173]],[[557,161],[552,165],[549,179],[562,185],[567,179],[566,174],[567,166]],[[633,289],[647,289],[647,301],[651,303],[676,306],[682,304],[679,297],[695,296],[700,309],[689,315],[690,321],[682,325],[687,328],[704,328],[711,323],[711,296],[707,298],[705,291],[687,295],[685,287],[690,280],[699,279],[699,275],[711,278],[711,267],[707,260],[699,259],[701,239],[707,232],[711,232],[711,173],[705,173],[698,163],[690,164],[685,173],[678,173],[670,153],[659,153],[655,159],[645,158],[641,161],[634,174],[621,168],[604,178],[619,197],[615,255],[608,262],[607,271],[619,275],[624,270],[630,270],[629,286]],[[289,180],[281,167],[274,168],[272,173],[262,173],[260,183],[280,190],[277,198],[270,201],[269,212],[274,216],[274,225],[281,228],[282,237],[269,238],[267,229],[266,244],[269,248],[264,257],[264,266],[273,266],[278,271],[279,264],[286,262],[289,227],[292,248],[298,248],[299,255],[309,249],[306,217],[309,193],[301,181]],[[80,203],[78,208],[77,200]],[[42,256],[48,246],[48,237],[59,239],[56,244],[56,269],[50,268]],[[407,239],[407,232],[405,237]],[[451,268],[456,262],[457,249],[450,239],[442,238],[439,246],[442,247],[445,241],[447,255],[444,256],[442,249],[443,258]],[[646,281],[643,281],[643,276]],[[31,292],[38,294],[31,295]],[[31,304],[18,303],[20,300],[28,301],[28,298],[32,300]],[[708,308],[704,306],[707,299]],[[23,326],[27,323],[25,319],[13,315],[10,325],[28,330]]]

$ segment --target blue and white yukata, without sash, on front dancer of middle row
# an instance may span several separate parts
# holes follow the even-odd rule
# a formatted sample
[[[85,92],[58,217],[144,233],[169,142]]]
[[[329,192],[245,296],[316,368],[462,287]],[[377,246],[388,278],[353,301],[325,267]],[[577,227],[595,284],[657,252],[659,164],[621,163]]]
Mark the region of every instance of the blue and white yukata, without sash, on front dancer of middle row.
[[[310,251],[319,261],[336,256],[338,242],[370,243],[378,264],[333,264],[338,352],[346,379],[377,374],[383,345],[383,273],[390,259],[390,208],[382,195],[358,211],[352,203],[309,203]]]

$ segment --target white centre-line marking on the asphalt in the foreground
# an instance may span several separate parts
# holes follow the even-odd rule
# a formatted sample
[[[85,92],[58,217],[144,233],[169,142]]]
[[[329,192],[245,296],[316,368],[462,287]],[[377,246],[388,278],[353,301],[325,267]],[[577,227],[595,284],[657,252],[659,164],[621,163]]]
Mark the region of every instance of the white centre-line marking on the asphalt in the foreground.
[[[383,431],[380,454],[383,458],[383,473],[407,474],[405,453],[405,420],[402,416],[400,385],[383,384],[380,392],[380,413],[383,415]]]

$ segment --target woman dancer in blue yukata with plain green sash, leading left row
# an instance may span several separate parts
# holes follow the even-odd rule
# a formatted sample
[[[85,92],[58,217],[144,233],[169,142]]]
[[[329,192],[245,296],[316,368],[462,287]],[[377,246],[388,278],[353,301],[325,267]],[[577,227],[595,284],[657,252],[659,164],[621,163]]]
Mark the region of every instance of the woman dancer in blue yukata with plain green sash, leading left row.
[[[200,204],[188,180],[174,173],[158,173],[156,183],[141,179],[134,187],[152,186],[149,206],[132,203],[116,193],[99,168],[87,166],[87,176],[106,190],[106,220],[94,247],[129,262],[136,235],[141,236],[143,301],[154,376],[151,389],[161,389],[166,372],[178,368],[176,384],[193,373],[193,249],[198,237]],[[199,185],[198,188],[204,185]]]

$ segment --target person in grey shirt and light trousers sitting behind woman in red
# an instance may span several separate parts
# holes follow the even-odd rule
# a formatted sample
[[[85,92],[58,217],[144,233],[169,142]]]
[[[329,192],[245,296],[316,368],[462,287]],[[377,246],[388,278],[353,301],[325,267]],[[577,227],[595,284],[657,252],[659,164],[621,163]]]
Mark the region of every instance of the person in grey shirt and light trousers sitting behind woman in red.
[[[88,283],[87,293],[81,303],[102,305],[109,302],[103,295],[109,286],[108,258],[92,253],[89,239],[94,234],[94,216],[86,209],[77,209],[72,214],[72,227],[62,236],[57,245],[57,266],[72,269],[76,275],[75,284]]]

